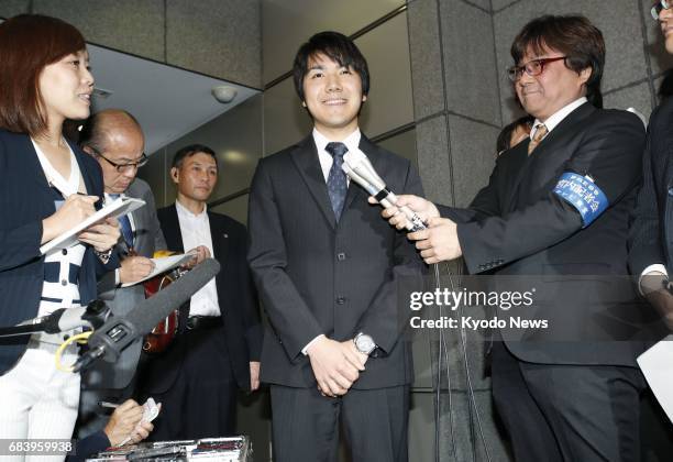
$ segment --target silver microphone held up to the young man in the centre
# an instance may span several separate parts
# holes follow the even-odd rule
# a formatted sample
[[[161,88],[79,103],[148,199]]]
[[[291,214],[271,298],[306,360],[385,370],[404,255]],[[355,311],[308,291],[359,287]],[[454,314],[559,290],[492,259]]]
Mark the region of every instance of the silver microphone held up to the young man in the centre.
[[[365,188],[386,209],[397,205],[397,196],[386,187],[385,182],[378,176],[374,166],[362,151],[349,151],[343,156],[341,168],[353,182]],[[407,206],[399,207],[399,211],[407,217],[406,228],[409,231],[420,231],[427,228],[423,220]]]

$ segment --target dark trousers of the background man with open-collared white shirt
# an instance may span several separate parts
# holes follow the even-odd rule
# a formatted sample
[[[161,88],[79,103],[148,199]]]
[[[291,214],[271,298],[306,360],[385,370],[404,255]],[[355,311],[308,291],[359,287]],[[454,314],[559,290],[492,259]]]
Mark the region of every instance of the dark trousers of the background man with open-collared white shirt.
[[[175,382],[164,393],[143,393],[162,403],[151,441],[191,440],[235,435],[238,385],[222,330],[197,329],[175,339],[169,354],[181,361]],[[178,358],[183,355],[183,358]],[[150,360],[152,361],[152,360]],[[154,370],[144,381],[161,381]],[[151,383],[144,389],[155,388]]]

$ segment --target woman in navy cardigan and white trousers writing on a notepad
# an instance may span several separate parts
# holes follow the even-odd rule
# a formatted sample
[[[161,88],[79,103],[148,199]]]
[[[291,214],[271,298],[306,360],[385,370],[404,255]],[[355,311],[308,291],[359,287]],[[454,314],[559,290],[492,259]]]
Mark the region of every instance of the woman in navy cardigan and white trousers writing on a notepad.
[[[120,233],[108,220],[66,249],[40,251],[93,215],[103,191],[96,161],[63,136],[66,119],[90,111],[93,77],[79,31],[48,16],[9,19],[0,63],[0,326],[8,327],[96,298],[97,271],[118,264],[111,249]],[[54,353],[73,333],[0,339],[0,440],[70,438],[79,376],[57,370]],[[63,362],[76,356],[69,345]]]

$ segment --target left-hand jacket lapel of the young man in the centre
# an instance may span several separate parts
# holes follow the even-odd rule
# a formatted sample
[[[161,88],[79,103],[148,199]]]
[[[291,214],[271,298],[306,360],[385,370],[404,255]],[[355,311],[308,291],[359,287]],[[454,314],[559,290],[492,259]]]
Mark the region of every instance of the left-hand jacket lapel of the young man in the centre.
[[[327,191],[327,184],[320,168],[320,161],[318,160],[318,148],[312,135],[308,135],[296,146],[291,153],[291,158],[299,169],[311,196],[318,202],[324,218],[332,228],[336,228],[336,219],[334,218],[334,211],[332,210]]]

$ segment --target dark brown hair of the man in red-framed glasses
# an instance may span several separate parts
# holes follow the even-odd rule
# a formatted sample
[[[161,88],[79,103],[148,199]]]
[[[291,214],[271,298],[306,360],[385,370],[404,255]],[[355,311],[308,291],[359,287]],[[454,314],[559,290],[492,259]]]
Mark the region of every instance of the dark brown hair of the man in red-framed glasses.
[[[544,48],[563,53],[565,66],[575,73],[591,67],[586,81],[586,98],[597,108],[603,108],[600,79],[605,66],[605,41],[603,33],[582,15],[543,15],[523,26],[511,44],[511,57],[519,65],[531,50],[541,55]]]

